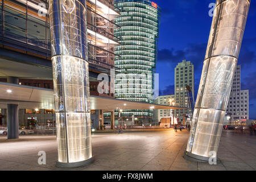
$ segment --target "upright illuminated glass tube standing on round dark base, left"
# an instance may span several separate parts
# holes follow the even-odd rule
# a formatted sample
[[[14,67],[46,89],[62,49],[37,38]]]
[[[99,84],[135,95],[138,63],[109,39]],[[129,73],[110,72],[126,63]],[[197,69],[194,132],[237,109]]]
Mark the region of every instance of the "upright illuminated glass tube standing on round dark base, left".
[[[57,167],[92,162],[86,6],[82,0],[50,0]]]

